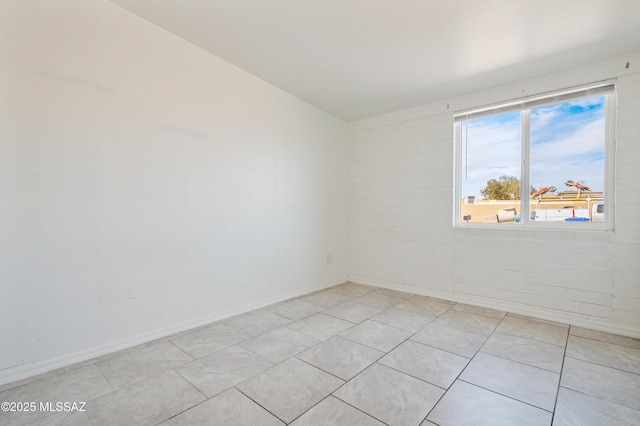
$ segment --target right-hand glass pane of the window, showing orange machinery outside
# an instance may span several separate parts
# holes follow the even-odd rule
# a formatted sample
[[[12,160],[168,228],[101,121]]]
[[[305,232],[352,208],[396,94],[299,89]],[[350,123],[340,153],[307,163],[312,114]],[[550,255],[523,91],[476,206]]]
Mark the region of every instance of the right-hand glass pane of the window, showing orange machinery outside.
[[[605,97],[531,109],[530,139],[531,218],[603,222]]]

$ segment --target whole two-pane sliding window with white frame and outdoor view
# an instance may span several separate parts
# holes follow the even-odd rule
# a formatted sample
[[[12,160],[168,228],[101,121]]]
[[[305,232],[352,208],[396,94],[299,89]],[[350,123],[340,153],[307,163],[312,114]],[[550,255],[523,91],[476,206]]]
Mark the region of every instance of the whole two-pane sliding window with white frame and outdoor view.
[[[608,82],[456,113],[455,223],[611,228],[614,101]]]

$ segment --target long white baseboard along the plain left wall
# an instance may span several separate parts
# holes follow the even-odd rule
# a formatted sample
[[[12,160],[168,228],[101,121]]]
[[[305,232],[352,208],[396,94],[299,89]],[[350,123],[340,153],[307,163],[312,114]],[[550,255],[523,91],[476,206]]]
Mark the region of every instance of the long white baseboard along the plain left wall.
[[[198,318],[197,320],[194,320],[194,321],[188,321],[182,324],[172,325],[170,327],[151,330],[147,333],[138,334],[136,336],[132,336],[126,339],[121,339],[115,342],[111,342],[107,345],[89,348],[80,352],[75,352],[73,354],[64,355],[58,358],[54,358],[51,360],[46,360],[46,361],[42,361],[34,364],[19,364],[9,368],[5,368],[0,371],[0,385],[6,385],[9,383],[34,377],[37,375],[51,373],[54,370],[60,370],[60,372],[64,372],[65,367],[72,366],[73,364],[77,364],[79,362],[86,362],[93,358],[108,355],[125,348],[148,343],[157,339],[166,338],[176,333],[201,327],[203,325],[211,324],[216,321],[222,321],[222,320],[231,318],[233,316],[241,315],[256,309],[264,308],[265,306],[273,305],[274,303],[279,303],[288,299],[292,299],[294,297],[299,297],[308,293],[313,293],[319,290],[323,290],[329,287],[343,284],[346,281],[347,281],[347,276],[345,275],[336,280],[282,293],[277,296],[261,300],[260,302],[250,303],[238,308],[230,309],[228,311],[216,312],[214,314]],[[24,384],[24,383],[21,383],[21,384]],[[3,386],[3,388],[7,388],[7,387]]]

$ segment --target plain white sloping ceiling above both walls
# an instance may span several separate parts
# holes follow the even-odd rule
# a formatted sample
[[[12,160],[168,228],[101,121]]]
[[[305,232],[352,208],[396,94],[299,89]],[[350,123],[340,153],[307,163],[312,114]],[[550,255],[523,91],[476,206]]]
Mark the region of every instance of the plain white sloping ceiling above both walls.
[[[639,0],[111,0],[346,122],[640,50]]]

